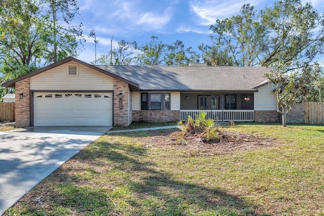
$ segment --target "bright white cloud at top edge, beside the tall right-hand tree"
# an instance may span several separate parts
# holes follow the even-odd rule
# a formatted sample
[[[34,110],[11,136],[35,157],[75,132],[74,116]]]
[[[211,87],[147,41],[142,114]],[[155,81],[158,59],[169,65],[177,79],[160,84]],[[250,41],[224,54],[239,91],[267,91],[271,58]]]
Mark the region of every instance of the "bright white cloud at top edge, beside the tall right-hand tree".
[[[252,6],[255,6],[258,0],[250,1]],[[239,12],[242,5],[247,4],[243,0],[204,0],[204,1],[190,1],[190,9],[200,18],[201,25],[211,25],[215,23],[216,19],[224,19],[235,15]]]

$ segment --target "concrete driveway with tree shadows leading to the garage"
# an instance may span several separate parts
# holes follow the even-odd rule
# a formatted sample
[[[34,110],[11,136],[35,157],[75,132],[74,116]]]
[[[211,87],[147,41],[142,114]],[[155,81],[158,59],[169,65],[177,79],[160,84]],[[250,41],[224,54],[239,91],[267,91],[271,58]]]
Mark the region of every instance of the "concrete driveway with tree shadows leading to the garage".
[[[29,127],[0,132],[0,215],[111,127]]]

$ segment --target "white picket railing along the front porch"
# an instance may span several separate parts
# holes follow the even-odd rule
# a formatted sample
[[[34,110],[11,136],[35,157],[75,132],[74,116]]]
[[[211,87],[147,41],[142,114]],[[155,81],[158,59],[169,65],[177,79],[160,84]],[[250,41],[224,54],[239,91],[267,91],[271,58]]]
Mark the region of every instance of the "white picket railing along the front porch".
[[[181,110],[181,121],[187,121],[188,116],[193,119],[201,110]],[[216,121],[237,121],[237,122],[253,122],[254,110],[203,110],[207,119],[215,119]]]

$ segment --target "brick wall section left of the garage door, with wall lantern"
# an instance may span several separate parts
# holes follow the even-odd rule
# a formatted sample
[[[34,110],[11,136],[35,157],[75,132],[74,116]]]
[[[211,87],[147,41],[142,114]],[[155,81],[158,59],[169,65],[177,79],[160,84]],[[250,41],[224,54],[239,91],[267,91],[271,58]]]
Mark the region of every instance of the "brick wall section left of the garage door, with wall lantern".
[[[28,127],[30,126],[30,78],[18,81],[15,84],[15,90],[16,127]],[[23,93],[22,99],[20,99],[21,93]]]

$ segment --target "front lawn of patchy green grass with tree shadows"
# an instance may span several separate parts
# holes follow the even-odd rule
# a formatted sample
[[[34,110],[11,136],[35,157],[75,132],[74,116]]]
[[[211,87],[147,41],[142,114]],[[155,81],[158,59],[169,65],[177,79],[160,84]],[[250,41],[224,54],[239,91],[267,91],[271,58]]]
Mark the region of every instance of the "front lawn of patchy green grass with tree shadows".
[[[237,124],[267,145],[229,151],[176,130],[104,135],[5,215],[324,215],[323,126]]]

